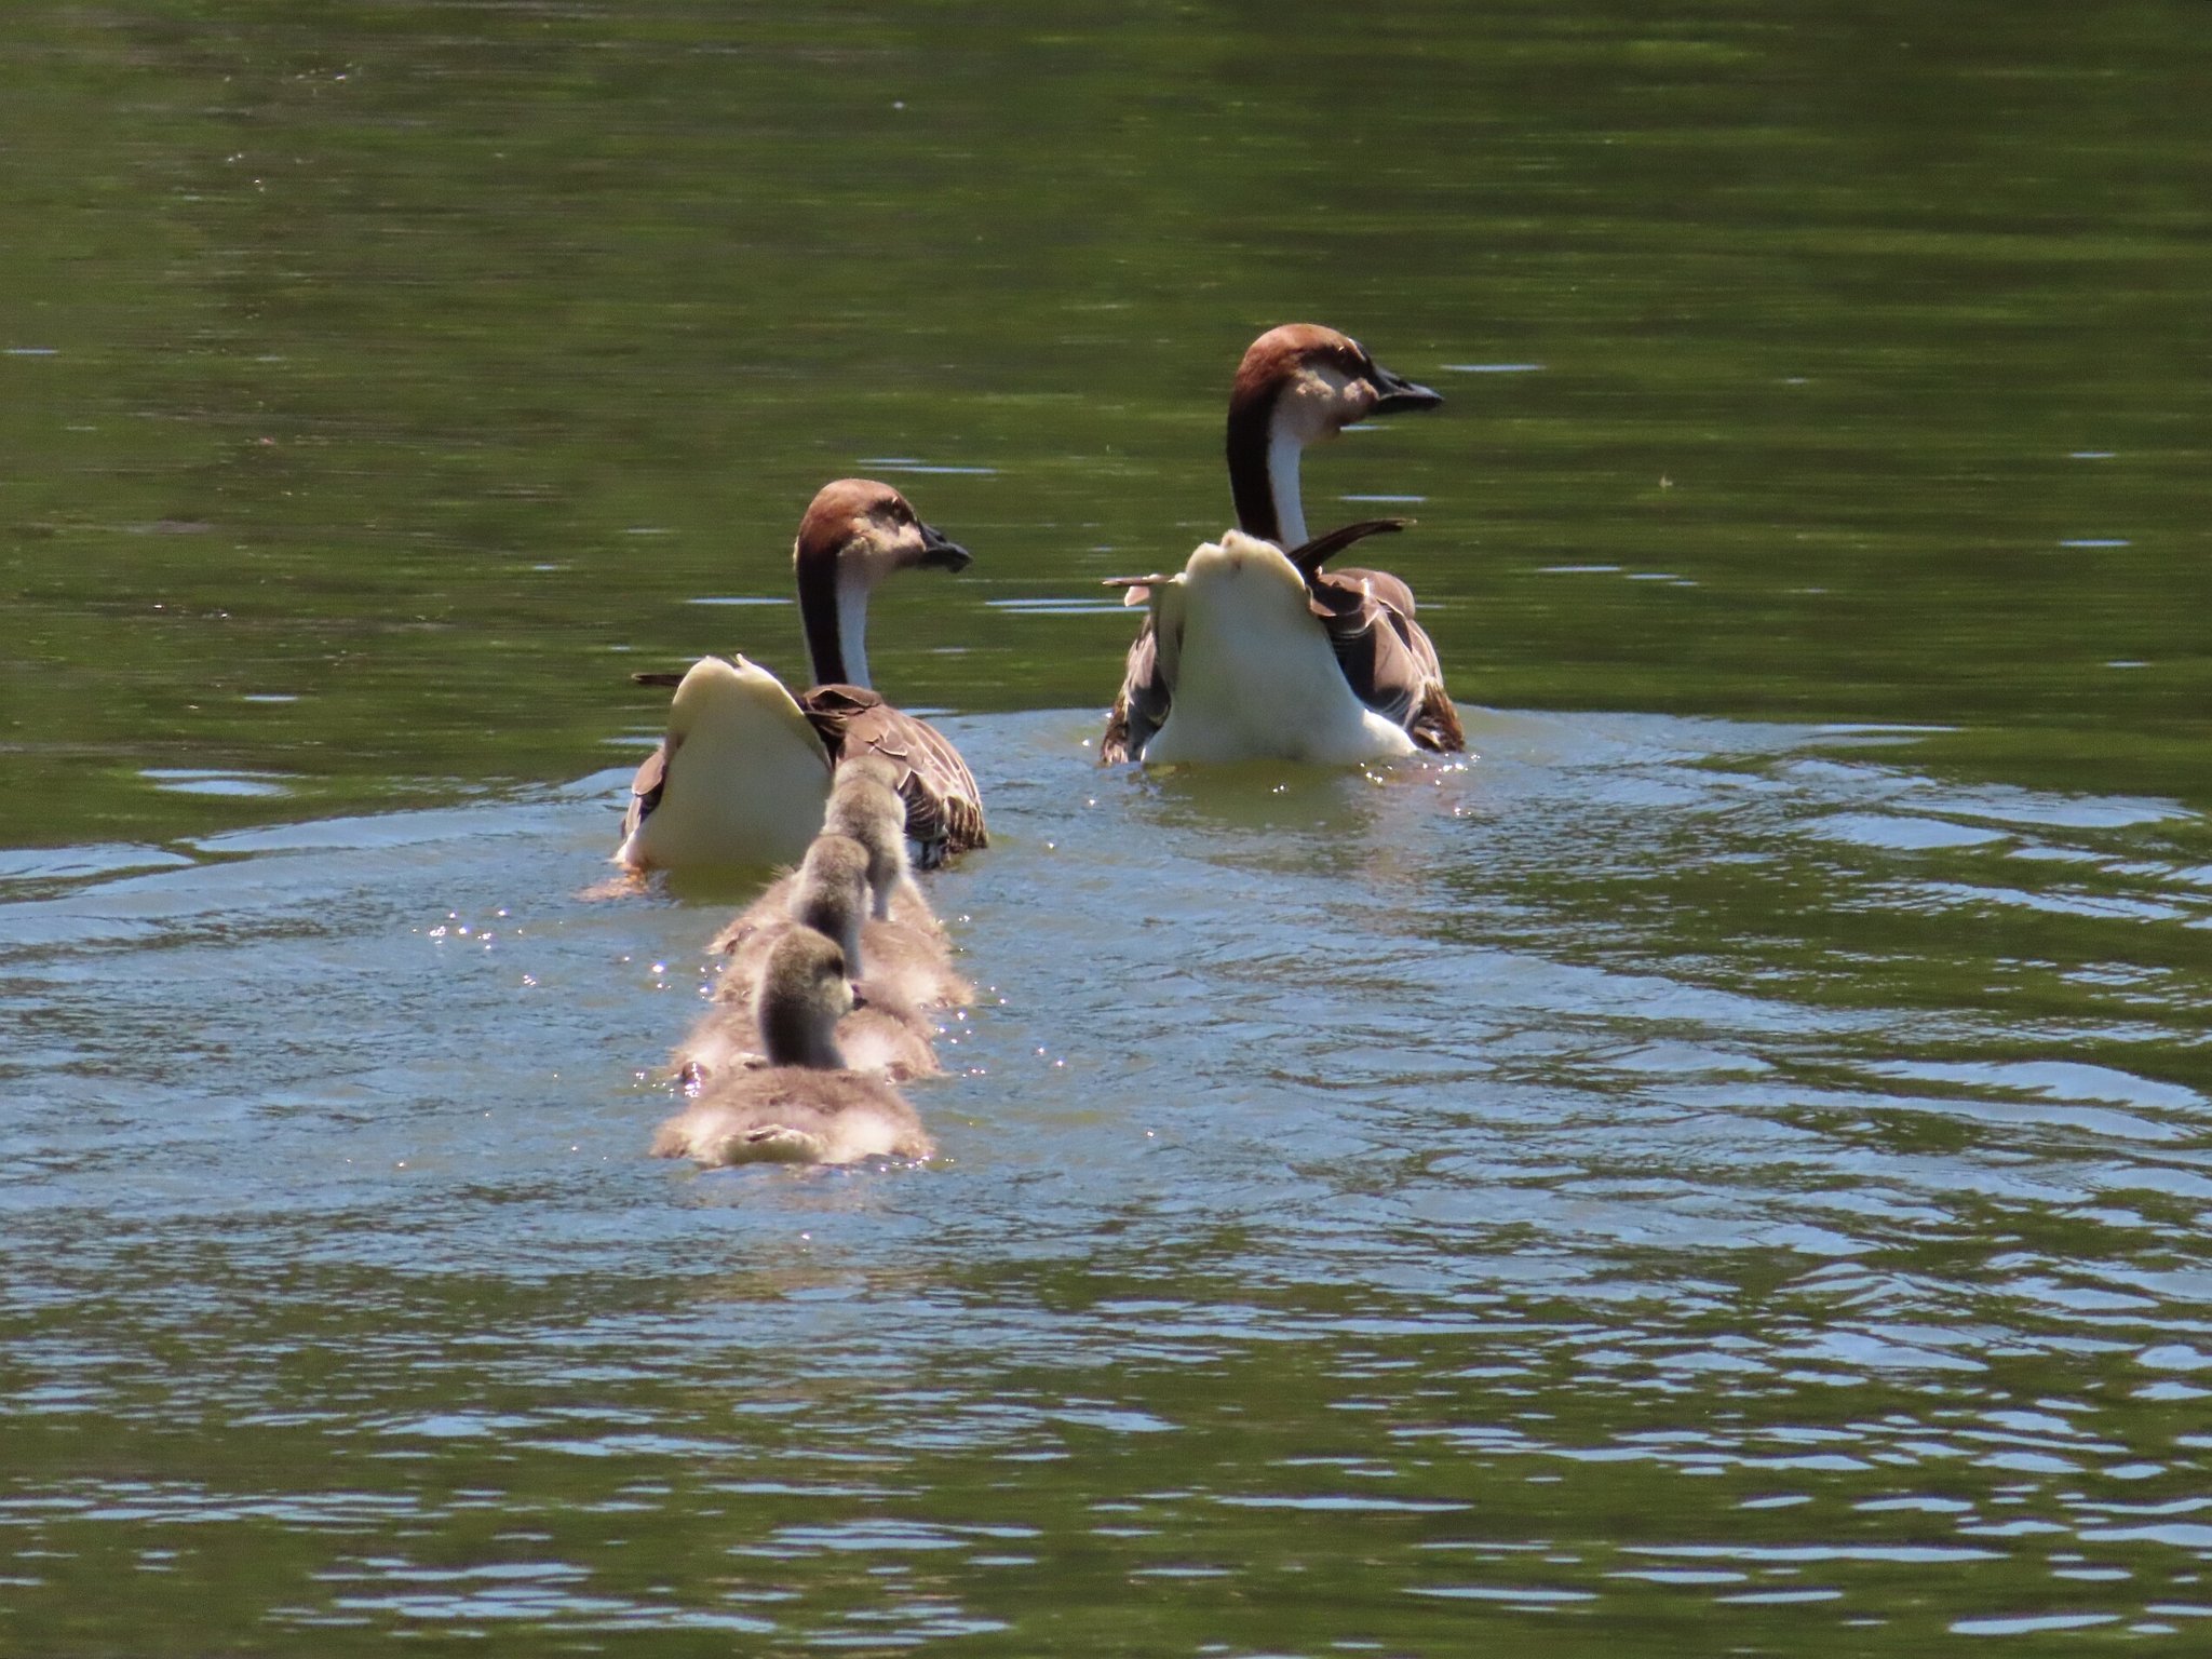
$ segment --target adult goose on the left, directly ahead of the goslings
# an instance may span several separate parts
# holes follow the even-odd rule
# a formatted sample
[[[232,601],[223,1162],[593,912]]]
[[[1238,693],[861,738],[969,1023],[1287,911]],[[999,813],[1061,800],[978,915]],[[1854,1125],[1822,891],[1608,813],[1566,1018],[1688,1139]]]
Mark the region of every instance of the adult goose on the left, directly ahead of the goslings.
[[[799,524],[792,571],[814,686],[792,697],[759,664],[701,657],[637,768],[615,860],[630,869],[794,863],[823,821],[843,757],[878,754],[925,869],[987,841],[982,792],[942,732],[867,684],[867,597],[894,571],[964,571],[969,551],[889,484],[823,484]],[[637,675],[670,684],[668,675]]]

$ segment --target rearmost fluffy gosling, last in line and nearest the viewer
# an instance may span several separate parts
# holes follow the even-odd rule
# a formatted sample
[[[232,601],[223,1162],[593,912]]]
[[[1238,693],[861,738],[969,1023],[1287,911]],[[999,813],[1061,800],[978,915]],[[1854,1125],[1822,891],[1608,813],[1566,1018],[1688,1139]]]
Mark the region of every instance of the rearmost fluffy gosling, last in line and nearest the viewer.
[[[856,1164],[936,1155],[914,1108],[880,1077],[845,1068],[838,1018],[852,1009],[845,951],[794,927],[761,967],[765,1066],[714,1077],[653,1137],[655,1157],[699,1164]]]

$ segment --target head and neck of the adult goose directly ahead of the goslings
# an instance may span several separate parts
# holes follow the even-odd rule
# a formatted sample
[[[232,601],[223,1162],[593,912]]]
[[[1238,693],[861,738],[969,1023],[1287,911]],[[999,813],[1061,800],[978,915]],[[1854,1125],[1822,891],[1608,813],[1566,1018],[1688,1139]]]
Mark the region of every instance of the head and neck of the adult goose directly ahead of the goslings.
[[[816,686],[867,686],[867,595],[894,571],[964,571],[971,553],[925,524],[889,484],[838,478],[814,491],[792,544],[799,617]]]

